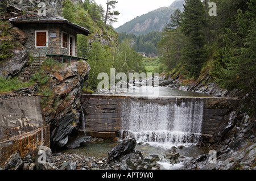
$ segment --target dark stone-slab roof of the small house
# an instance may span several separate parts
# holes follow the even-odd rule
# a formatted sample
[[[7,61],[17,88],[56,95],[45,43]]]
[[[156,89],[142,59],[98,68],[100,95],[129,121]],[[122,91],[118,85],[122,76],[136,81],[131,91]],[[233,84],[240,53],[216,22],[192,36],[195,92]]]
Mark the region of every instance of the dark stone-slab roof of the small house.
[[[15,18],[9,19],[12,24],[49,24],[49,23],[64,23],[67,26],[75,28],[77,33],[88,36],[90,31],[84,27],[81,27],[75,23],[69,22],[69,20],[57,16],[55,14],[39,15],[37,12],[27,12],[26,14],[18,15]]]

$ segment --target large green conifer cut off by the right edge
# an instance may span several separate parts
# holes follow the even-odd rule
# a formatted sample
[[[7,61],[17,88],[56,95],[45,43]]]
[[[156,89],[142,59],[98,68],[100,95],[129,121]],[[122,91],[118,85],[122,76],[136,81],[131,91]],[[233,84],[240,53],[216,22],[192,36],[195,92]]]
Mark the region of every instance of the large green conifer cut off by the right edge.
[[[226,28],[225,48],[222,49],[222,62],[217,68],[215,81],[228,89],[249,90],[255,88],[256,70],[256,6],[255,0],[248,3],[245,13],[237,10],[233,22],[236,30]]]

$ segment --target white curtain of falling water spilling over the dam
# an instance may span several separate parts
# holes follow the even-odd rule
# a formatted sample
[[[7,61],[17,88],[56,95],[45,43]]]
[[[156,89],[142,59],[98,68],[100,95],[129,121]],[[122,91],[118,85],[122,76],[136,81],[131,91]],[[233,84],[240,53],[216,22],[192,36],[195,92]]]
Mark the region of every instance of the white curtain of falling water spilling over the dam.
[[[122,133],[156,145],[196,144],[201,138],[204,102],[199,98],[123,103]]]

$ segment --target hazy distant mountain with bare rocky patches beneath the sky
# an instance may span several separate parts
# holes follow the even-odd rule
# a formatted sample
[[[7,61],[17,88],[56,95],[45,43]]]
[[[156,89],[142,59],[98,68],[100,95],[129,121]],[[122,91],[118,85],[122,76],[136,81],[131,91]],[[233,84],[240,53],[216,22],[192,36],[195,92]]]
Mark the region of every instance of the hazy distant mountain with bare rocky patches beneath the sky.
[[[134,35],[146,34],[151,31],[162,31],[166,23],[169,23],[171,14],[176,9],[183,11],[184,0],[176,0],[169,7],[160,7],[147,14],[137,16],[130,22],[115,29],[118,33],[134,33]]]

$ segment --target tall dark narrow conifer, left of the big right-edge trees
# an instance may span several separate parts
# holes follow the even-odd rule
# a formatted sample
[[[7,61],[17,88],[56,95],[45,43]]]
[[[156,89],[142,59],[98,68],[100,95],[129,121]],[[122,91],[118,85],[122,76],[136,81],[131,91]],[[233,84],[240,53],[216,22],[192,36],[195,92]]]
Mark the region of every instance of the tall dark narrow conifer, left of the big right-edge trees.
[[[205,9],[200,0],[185,0],[181,15],[181,31],[188,37],[183,60],[190,77],[200,74],[201,64],[206,61],[205,44]]]

